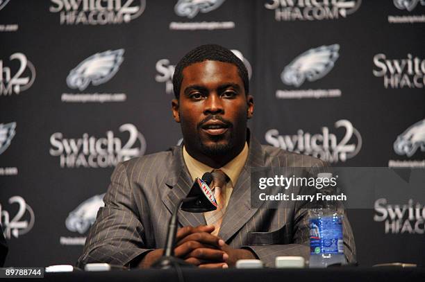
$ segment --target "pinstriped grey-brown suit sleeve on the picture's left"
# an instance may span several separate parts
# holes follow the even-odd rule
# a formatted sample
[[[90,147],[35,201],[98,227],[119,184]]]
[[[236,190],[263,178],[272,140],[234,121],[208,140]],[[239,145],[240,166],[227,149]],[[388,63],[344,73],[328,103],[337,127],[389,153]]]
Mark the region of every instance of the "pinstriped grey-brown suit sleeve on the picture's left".
[[[144,248],[144,228],[124,164],[120,163],[115,168],[103,202],[105,206],[97,213],[77,265],[110,263],[134,266],[134,261],[151,249]]]

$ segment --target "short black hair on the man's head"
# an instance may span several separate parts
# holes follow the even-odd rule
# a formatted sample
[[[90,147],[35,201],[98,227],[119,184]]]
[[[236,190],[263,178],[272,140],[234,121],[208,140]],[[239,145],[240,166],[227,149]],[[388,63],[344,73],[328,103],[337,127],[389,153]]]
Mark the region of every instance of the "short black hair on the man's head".
[[[176,65],[173,76],[174,96],[178,99],[180,96],[181,82],[183,82],[183,69],[191,64],[203,62],[206,60],[228,62],[238,67],[238,74],[244,82],[245,95],[249,94],[248,71],[244,63],[229,49],[217,44],[206,44],[198,46],[187,53]]]

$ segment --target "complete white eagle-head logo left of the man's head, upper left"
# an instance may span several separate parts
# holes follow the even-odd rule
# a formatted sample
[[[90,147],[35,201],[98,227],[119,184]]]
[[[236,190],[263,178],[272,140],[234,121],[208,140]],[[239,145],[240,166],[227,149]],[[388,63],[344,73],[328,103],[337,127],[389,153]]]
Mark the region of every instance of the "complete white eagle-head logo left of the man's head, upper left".
[[[90,82],[92,82],[92,85],[101,85],[107,82],[119,70],[119,65],[124,60],[123,54],[124,49],[118,49],[90,56],[78,64],[75,69],[69,71],[67,85],[70,88],[78,88],[83,91]]]

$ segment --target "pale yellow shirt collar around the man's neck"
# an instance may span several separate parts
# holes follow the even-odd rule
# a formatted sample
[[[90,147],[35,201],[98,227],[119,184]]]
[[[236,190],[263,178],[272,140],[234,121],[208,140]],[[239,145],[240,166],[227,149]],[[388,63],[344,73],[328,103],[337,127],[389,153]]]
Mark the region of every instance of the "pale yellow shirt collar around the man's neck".
[[[245,142],[245,146],[242,149],[242,152],[240,152],[238,156],[229,161],[227,164],[222,166],[222,168],[219,168],[231,179],[233,186],[236,184],[242,168],[244,168],[245,161],[247,161],[248,158],[248,152],[248,144]],[[198,161],[189,155],[185,146],[183,146],[183,159],[186,166],[188,167],[190,177],[192,177],[193,180],[197,177],[202,177],[202,175],[206,172],[211,172],[214,170],[214,168],[201,163],[201,161]]]

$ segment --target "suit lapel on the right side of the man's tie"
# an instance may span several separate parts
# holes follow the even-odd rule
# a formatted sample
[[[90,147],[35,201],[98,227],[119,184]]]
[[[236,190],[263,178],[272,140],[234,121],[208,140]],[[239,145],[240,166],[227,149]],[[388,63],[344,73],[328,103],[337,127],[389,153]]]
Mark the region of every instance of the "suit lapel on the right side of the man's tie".
[[[249,157],[233,188],[218,233],[224,241],[227,242],[258,211],[258,209],[251,209],[251,167],[263,166],[264,156],[261,145],[250,136]]]

